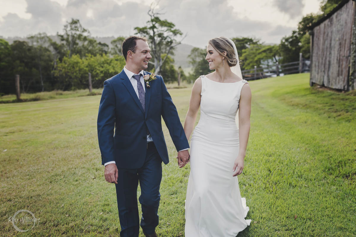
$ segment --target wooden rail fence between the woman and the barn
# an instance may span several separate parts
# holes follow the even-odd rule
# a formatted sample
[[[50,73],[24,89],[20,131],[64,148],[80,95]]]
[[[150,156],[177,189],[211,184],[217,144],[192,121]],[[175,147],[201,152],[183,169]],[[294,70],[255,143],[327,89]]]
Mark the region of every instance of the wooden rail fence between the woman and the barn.
[[[269,65],[266,67],[257,67],[253,69],[243,70],[242,78],[247,81],[257,80],[261,78],[309,72],[309,60],[304,60],[302,53],[299,54],[299,61],[289,62],[287,64]]]

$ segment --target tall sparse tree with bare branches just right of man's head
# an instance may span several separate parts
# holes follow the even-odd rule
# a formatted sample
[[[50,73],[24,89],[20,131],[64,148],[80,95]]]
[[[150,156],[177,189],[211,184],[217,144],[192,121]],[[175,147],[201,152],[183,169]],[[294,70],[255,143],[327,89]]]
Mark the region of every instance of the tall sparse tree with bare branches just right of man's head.
[[[147,21],[145,27],[135,27],[136,34],[144,36],[148,39],[148,43],[151,47],[151,54],[153,57],[153,63],[155,65],[155,73],[159,74],[161,67],[168,55],[172,55],[174,47],[182,42],[177,40],[177,37],[183,35],[183,33],[175,28],[176,25],[167,20],[161,20],[158,15],[161,13],[155,12],[157,5],[151,4],[148,15],[150,20]],[[162,55],[166,55],[162,58]]]

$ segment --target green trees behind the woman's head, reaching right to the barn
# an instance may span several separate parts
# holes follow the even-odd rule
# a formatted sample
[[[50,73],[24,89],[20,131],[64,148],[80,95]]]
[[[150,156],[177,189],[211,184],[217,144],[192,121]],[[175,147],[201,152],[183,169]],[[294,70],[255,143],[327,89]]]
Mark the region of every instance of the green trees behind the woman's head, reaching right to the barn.
[[[276,64],[299,61],[299,53],[304,59],[310,58],[310,36],[308,27],[320,20],[336,7],[342,0],[324,0],[320,4],[320,14],[308,14],[298,23],[298,28],[292,34],[283,37],[278,45],[268,45],[256,38],[233,38],[239,53],[241,70],[253,69]],[[210,73],[205,60],[206,49],[193,48],[189,55],[189,62],[193,67],[189,79]]]

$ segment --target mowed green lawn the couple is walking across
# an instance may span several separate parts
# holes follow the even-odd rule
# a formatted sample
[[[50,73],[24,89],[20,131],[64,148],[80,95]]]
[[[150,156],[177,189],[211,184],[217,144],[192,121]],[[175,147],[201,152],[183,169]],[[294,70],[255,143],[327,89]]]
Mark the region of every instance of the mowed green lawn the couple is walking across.
[[[355,93],[310,88],[307,73],[250,86],[251,132],[239,182],[252,222],[238,236],[356,236]],[[190,91],[169,89],[182,123]],[[104,179],[98,147],[99,101],[0,104],[0,236],[119,236],[115,185]],[[171,162],[163,165],[156,231],[184,236],[189,165],[178,169],[163,131]],[[27,232],[8,221],[21,209],[40,219]]]

